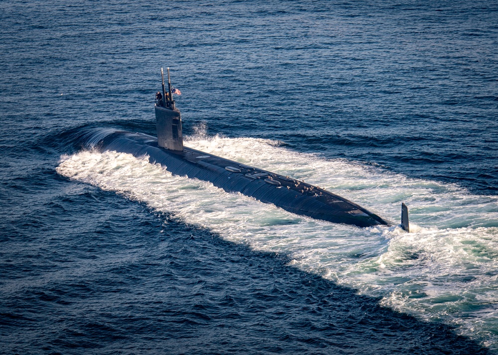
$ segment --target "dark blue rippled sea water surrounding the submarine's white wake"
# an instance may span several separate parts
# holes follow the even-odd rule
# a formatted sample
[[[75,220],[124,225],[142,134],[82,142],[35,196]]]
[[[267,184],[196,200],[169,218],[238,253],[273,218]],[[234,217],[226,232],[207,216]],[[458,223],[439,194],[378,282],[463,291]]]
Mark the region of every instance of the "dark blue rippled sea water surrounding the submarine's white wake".
[[[2,354],[498,349],[56,172],[84,127],[154,134],[169,66],[187,134],[205,125],[496,196],[495,1],[0,9]]]

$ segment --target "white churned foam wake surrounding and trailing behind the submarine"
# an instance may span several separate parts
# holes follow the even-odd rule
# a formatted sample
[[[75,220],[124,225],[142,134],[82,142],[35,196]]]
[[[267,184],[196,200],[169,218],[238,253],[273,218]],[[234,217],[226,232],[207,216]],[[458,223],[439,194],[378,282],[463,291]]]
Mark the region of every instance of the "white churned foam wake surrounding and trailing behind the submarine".
[[[209,182],[172,176],[128,154],[84,151],[63,156],[57,171],[173,213],[226,240],[288,255],[291,265],[379,296],[381,304],[398,311],[456,325],[462,334],[498,350],[496,196],[471,195],[454,184],[300,154],[268,140],[194,137],[186,145],[304,178],[396,223],[404,201],[410,208],[411,233],[294,215]]]

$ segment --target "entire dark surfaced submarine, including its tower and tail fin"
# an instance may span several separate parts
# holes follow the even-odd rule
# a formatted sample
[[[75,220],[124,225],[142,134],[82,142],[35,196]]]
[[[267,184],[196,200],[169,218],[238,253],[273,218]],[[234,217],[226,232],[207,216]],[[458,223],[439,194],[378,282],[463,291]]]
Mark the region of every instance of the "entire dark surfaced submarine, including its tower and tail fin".
[[[173,175],[209,181],[227,192],[240,192],[298,215],[358,227],[391,225],[366,208],[318,186],[185,147],[180,111],[172,98],[169,68],[167,74],[166,91],[161,68],[162,93],[156,93],[154,106],[157,138],[102,128],[87,132],[82,137],[83,145],[101,152],[147,156],[151,164],[160,164]],[[409,231],[408,209],[404,204],[401,228]]]

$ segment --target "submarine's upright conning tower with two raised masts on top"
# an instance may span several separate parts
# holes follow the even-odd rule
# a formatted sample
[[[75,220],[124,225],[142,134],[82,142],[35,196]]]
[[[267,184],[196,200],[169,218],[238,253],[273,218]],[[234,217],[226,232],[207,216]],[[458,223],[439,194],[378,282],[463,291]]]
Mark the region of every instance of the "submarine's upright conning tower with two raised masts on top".
[[[164,87],[164,73],[161,68],[162,95],[156,94],[155,114],[157,145],[172,151],[183,151],[182,118],[175,107],[171,91],[168,68],[168,92]]]

